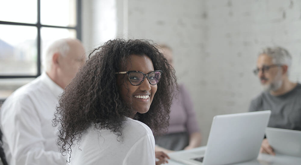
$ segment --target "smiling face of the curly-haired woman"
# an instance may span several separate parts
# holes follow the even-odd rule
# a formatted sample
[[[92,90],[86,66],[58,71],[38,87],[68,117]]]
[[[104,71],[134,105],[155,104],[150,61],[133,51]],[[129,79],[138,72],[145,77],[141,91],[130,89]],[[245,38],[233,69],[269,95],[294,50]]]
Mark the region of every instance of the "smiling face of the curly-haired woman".
[[[146,55],[130,55],[126,63],[124,70],[139,71],[130,71],[127,79],[124,79],[125,76],[117,75],[117,85],[121,98],[127,104],[131,104],[134,114],[137,112],[141,114],[146,113],[151,106],[160,78],[157,79],[157,82],[151,83],[154,81],[154,76],[150,80],[149,76],[143,73],[154,73],[153,63]],[[147,76],[148,81],[144,81],[145,76]]]

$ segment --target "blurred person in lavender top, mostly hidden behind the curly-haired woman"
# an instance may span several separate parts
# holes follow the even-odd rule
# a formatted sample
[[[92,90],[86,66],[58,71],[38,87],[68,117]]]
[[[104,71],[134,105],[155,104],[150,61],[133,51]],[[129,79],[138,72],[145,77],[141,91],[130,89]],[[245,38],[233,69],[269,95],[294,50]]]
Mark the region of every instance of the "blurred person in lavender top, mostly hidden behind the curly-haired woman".
[[[159,51],[173,66],[172,49],[169,46],[158,46]],[[166,134],[155,137],[155,150],[166,153],[192,149],[200,146],[201,133],[193,109],[191,97],[185,85],[178,86],[170,107],[169,128]]]

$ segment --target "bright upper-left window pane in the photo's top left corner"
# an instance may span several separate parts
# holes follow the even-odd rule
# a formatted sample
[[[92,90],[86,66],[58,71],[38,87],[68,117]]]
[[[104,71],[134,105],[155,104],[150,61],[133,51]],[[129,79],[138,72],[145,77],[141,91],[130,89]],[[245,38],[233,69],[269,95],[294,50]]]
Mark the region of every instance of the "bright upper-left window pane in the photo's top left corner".
[[[0,0],[0,21],[37,22],[37,0]]]

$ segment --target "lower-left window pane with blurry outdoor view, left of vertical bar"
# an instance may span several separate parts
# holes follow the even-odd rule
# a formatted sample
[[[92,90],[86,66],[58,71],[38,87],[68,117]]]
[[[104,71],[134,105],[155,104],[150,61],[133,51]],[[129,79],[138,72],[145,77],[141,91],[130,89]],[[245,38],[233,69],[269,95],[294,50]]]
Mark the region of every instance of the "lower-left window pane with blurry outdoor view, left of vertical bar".
[[[0,25],[0,75],[37,74],[37,28]]]

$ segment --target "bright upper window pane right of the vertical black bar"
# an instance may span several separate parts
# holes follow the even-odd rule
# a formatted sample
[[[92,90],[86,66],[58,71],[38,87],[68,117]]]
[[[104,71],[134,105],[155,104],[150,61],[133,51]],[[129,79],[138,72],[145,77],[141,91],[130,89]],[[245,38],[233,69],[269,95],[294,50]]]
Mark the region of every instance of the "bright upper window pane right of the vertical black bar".
[[[41,24],[76,26],[76,0],[41,0]]]

